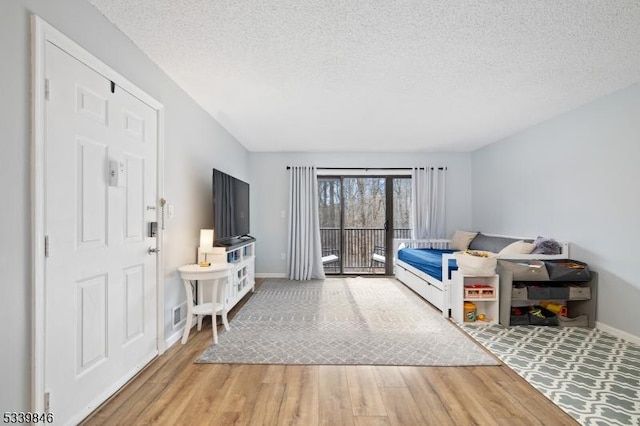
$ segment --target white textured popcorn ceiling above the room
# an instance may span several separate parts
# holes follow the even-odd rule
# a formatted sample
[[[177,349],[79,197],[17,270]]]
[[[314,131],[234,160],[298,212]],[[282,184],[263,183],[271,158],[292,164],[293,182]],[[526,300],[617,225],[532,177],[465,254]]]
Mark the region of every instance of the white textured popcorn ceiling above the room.
[[[469,151],[640,81],[640,3],[89,0],[250,151]]]

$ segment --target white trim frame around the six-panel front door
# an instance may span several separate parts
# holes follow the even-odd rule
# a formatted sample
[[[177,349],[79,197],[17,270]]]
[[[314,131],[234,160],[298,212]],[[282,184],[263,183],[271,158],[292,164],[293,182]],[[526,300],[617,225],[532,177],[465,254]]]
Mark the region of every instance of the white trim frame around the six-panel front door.
[[[131,93],[156,110],[158,121],[157,149],[157,211],[159,200],[164,197],[164,106],[143,92],[122,75],[80,47],[67,36],[36,15],[32,15],[32,150],[31,150],[31,230],[32,230],[32,342],[31,342],[31,410],[43,412],[45,401],[45,234],[44,234],[44,148],[45,148],[45,46],[52,43],[78,61],[92,68],[117,86]],[[164,245],[163,217],[159,215],[157,246],[160,252],[156,261],[157,290],[157,348],[164,350]],[[122,383],[124,384],[124,383]],[[114,391],[117,389],[114,389]]]

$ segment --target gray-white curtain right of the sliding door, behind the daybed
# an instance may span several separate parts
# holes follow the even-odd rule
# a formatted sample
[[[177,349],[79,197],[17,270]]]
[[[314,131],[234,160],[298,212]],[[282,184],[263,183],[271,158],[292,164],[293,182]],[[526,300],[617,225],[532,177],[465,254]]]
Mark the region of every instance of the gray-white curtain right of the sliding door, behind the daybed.
[[[411,171],[411,226],[414,239],[446,237],[446,171],[445,167],[416,167]]]

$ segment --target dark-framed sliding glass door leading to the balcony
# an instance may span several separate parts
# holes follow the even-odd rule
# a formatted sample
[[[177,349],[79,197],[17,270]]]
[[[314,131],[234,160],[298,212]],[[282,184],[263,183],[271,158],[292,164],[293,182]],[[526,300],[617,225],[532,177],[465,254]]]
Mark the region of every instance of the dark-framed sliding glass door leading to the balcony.
[[[325,273],[393,275],[392,240],[411,234],[411,178],[320,176],[318,196]]]

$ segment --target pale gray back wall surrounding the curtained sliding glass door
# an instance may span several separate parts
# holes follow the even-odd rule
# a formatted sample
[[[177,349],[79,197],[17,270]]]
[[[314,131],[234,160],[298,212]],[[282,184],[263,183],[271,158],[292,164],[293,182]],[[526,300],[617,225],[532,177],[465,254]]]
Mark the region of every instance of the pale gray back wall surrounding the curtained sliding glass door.
[[[283,275],[287,251],[289,174],[286,166],[419,167],[446,166],[447,230],[471,226],[471,156],[468,153],[251,153],[251,234],[257,238],[256,271]],[[282,217],[285,212],[285,217]]]

